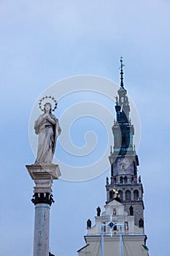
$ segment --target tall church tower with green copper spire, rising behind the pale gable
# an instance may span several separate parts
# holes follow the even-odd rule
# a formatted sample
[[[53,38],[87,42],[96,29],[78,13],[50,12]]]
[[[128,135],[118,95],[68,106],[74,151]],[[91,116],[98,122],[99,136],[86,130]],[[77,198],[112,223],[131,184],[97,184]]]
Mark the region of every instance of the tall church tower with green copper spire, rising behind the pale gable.
[[[107,203],[115,198],[118,191],[120,203],[125,211],[134,216],[134,223],[143,227],[144,203],[141,177],[137,177],[139,159],[133,148],[134,125],[129,118],[130,106],[127,91],[123,85],[123,62],[121,61],[120,89],[116,97],[116,121],[112,127],[114,147],[111,150],[109,161],[111,164],[111,182],[107,181]],[[113,190],[114,189],[114,190]],[[140,223],[140,225],[139,225]]]

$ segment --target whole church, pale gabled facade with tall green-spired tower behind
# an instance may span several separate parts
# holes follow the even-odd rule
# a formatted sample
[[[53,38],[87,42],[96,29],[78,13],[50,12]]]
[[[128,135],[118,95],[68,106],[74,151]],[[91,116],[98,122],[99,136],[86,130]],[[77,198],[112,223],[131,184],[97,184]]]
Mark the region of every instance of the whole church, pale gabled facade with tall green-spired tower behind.
[[[139,159],[133,146],[134,125],[123,84],[123,59],[120,59],[120,89],[117,91],[116,120],[112,126],[114,146],[109,162],[105,211],[97,208],[96,224],[88,219],[86,246],[79,256],[148,256],[147,236],[144,234],[144,202],[141,177],[137,175]],[[114,253],[113,253],[114,252]]]

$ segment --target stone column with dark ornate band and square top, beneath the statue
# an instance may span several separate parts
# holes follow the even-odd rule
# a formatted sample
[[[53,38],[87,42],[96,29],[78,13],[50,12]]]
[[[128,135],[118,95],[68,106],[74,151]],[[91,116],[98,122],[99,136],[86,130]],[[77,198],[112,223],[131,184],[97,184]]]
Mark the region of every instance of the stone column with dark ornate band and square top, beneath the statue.
[[[50,206],[54,203],[52,195],[53,180],[61,175],[58,165],[26,165],[29,175],[34,180],[35,205],[34,219],[34,256],[49,255]]]

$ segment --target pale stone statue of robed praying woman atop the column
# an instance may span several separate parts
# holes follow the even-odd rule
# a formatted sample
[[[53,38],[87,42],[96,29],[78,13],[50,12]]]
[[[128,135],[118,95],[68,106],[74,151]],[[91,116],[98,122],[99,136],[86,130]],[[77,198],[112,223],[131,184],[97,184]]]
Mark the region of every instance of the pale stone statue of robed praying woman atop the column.
[[[58,119],[51,113],[52,105],[45,103],[44,113],[36,119],[34,129],[39,135],[38,150],[35,164],[51,164],[55,152],[58,136],[61,134],[61,127]]]

